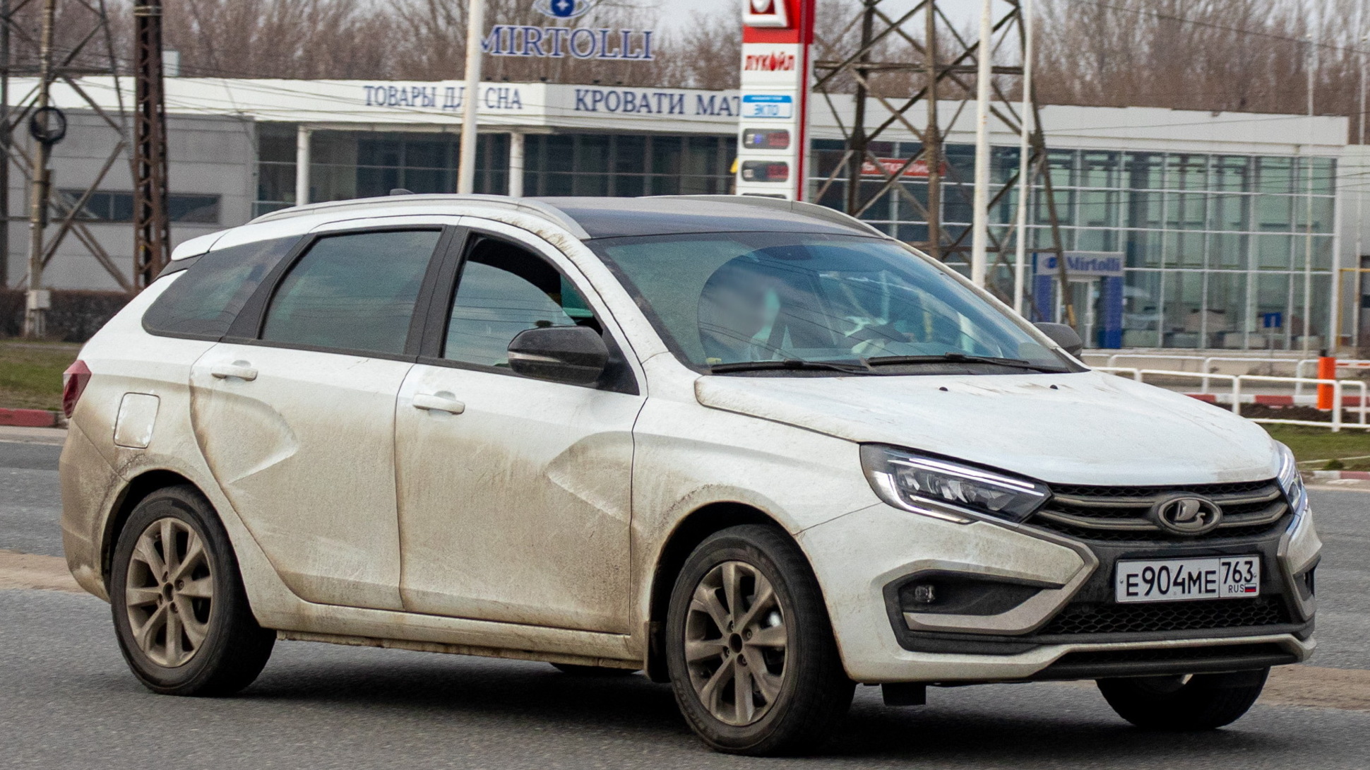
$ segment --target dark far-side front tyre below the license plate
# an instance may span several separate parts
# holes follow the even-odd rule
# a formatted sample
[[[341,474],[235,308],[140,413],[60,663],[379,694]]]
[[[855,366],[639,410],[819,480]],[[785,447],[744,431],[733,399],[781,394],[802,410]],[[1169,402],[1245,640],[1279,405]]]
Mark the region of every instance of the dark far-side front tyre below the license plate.
[[[1149,730],[1215,730],[1241,718],[1260,697],[1270,669],[1192,677],[1099,680],[1119,717]]]

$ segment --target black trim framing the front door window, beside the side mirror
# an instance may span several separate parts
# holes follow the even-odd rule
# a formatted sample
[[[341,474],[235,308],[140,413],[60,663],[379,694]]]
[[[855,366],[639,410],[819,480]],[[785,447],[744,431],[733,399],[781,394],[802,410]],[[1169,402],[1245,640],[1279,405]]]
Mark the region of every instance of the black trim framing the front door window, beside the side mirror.
[[[536,248],[529,243],[523,243],[518,238],[510,237],[506,233],[486,230],[480,226],[477,227],[463,226],[460,227],[460,230],[463,230],[460,233],[460,238],[459,240],[453,238],[452,243],[449,244],[448,252],[443,259],[443,267],[438,271],[437,281],[433,285],[433,293],[429,300],[426,322],[423,326],[422,345],[419,347],[418,359],[415,363],[422,363],[425,366],[440,366],[445,369],[462,369],[466,371],[484,371],[489,374],[501,374],[504,377],[518,377],[522,380],[527,380],[522,374],[510,371],[506,367],[485,366],[481,363],[470,363],[470,362],[443,358],[443,345],[447,341],[447,325],[452,316],[452,304],[456,301],[456,289],[462,282],[462,273],[463,269],[466,267],[466,258],[470,253],[471,248],[474,248],[475,244],[478,244],[482,238],[490,238],[490,240],[504,241],[514,247],[529,251],[537,258],[547,262],[553,270],[564,275],[571,282],[571,285],[575,286],[575,289],[581,292],[582,296],[585,296],[586,301],[590,301],[589,300],[590,292],[586,292],[581,285],[581,284],[588,284],[588,280],[584,275],[581,275],[578,270],[574,274],[571,274],[556,262],[548,259],[547,255],[541,252],[541,249]],[[595,312],[595,318],[600,322],[600,327],[603,329],[604,343],[608,345],[610,349],[610,367],[611,367],[610,377],[592,385],[569,385],[569,386],[590,388],[595,390],[608,390],[614,393],[626,393],[629,396],[640,396],[643,390],[637,380],[637,373],[633,370],[633,364],[629,360],[626,352],[632,351],[632,348],[623,345],[623,343],[619,341],[618,337],[621,330],[619,333],[615,333],[615,330],[610,326],[610,323],[601,319],[601,316],[608,315],[607,310],[606,312],[600,312],[593,307],[590,310],[592,312]]]

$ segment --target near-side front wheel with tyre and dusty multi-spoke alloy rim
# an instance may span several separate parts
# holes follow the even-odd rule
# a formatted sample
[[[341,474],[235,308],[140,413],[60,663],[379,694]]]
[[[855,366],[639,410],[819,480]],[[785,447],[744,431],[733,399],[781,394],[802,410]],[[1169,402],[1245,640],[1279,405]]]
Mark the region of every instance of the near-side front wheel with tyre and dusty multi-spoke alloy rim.
[[[675,580],[666,634],[675,701],[717,751],[811,752],[851,708],[855,682],[818,581],[773,527],[734,526],[704,540]]]

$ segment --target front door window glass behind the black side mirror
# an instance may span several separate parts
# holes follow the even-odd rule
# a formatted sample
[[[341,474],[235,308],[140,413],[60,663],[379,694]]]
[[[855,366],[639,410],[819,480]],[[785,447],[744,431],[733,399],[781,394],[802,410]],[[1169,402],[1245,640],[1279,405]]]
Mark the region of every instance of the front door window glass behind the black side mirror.
[[[462,267],[443,358],[507,367],[514,337],[544,326],[601,332],[585,297],[547,260],[506,241],[480,238]]]

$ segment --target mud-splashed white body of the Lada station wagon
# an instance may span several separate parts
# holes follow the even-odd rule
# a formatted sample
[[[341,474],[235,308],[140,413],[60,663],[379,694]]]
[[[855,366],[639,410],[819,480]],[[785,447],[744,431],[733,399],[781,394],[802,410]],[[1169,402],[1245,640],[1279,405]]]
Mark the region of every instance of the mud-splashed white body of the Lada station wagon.
[[[693,204],[775,229],[810,221],[877,237],[788,203],[638,206],[649,216]],[[123,519],[151,490],[189,484],[222,521],[252,615],[281,638],[645,669],[660,680],[666,606],[686,555],[714,530],[759,523],[807,559],[856,682],[1229,671],[1311,654],[1319,541],[1295,481],[1277,486],[1286,459],[1259,426],[1078,363],[1063,374],[701,373],[592,251],[595,236],[566,212],[577,207],[590,210],[480,196],[318,204],[178,248],[171,274],[81,352],[89,384],[62,456],[78,582],[104,599],[119,591],[111,560]],[[393,229],[482,233],[548,260],[616,341],[632,386],[436,366],[416,348],[367,356],[144,326],[184,262]],[[1041,518],[891,501],[873,486],[863,445],[995,469],[1058,496],[1269,482],[1299,510],[1245,541],[1093,541]],[[1117,608],[1119,559],[1215,554],[1259,555],[1260,601],[1281,604],[1278,622],[1044,630],[1082,600]],[[1030,596],[993,614],[923,612],[899,595],[900,581],[921,574],[1001,581]]]

